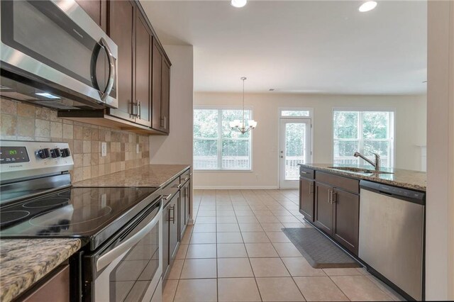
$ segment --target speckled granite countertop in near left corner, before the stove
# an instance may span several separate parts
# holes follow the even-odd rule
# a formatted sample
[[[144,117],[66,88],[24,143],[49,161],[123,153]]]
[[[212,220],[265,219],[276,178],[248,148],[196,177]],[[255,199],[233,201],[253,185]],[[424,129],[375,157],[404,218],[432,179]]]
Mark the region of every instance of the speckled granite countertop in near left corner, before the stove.
[[[80,245],[79,239],[0,240],[0,301],[16,298],[77,252]]]

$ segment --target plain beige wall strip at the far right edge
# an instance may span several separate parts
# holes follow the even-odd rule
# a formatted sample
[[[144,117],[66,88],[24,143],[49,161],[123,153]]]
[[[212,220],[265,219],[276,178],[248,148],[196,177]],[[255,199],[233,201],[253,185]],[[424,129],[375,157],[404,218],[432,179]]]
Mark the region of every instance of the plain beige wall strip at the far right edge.
[[[454,300],[454,1],[428,1],[426,298]]]

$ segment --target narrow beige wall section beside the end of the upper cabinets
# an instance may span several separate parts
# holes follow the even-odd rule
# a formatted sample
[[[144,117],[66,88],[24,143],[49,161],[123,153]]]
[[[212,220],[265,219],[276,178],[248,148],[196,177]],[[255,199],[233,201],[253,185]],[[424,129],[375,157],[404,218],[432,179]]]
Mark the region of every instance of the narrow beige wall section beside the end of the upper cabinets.
[[[150,136],[151,164],[192,164],[192,46],[164,45],[170,67],[170,135]]]

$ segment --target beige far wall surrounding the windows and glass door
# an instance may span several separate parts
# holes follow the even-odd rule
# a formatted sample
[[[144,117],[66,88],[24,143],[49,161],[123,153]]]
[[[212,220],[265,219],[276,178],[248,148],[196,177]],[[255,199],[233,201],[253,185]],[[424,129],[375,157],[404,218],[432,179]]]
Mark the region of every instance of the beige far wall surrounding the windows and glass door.
[[[194,105],[240,106],[241,94],[196,93]],[[426,145],[426,96],[333,96],[301,94],[246,94],[258,127],[253,130],[253,172],[194,172],[196,188],[277,188],[278,108],[314,108],[314,162],[332,162],[333,107],[394,108],[395,167],[421,168]]]

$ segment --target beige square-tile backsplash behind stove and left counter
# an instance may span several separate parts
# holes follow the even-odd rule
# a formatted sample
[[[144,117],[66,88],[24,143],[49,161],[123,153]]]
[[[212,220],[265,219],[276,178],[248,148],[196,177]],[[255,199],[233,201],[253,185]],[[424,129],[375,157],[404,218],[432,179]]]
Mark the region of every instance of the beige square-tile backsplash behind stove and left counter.
[[[68,142],[72,182],[150,163],[148,135],[57,118],[57,111],[8,99],[0,99],[0,111],[1,140]],[[106,157],[101,157],[101,142],[107,143]]]

